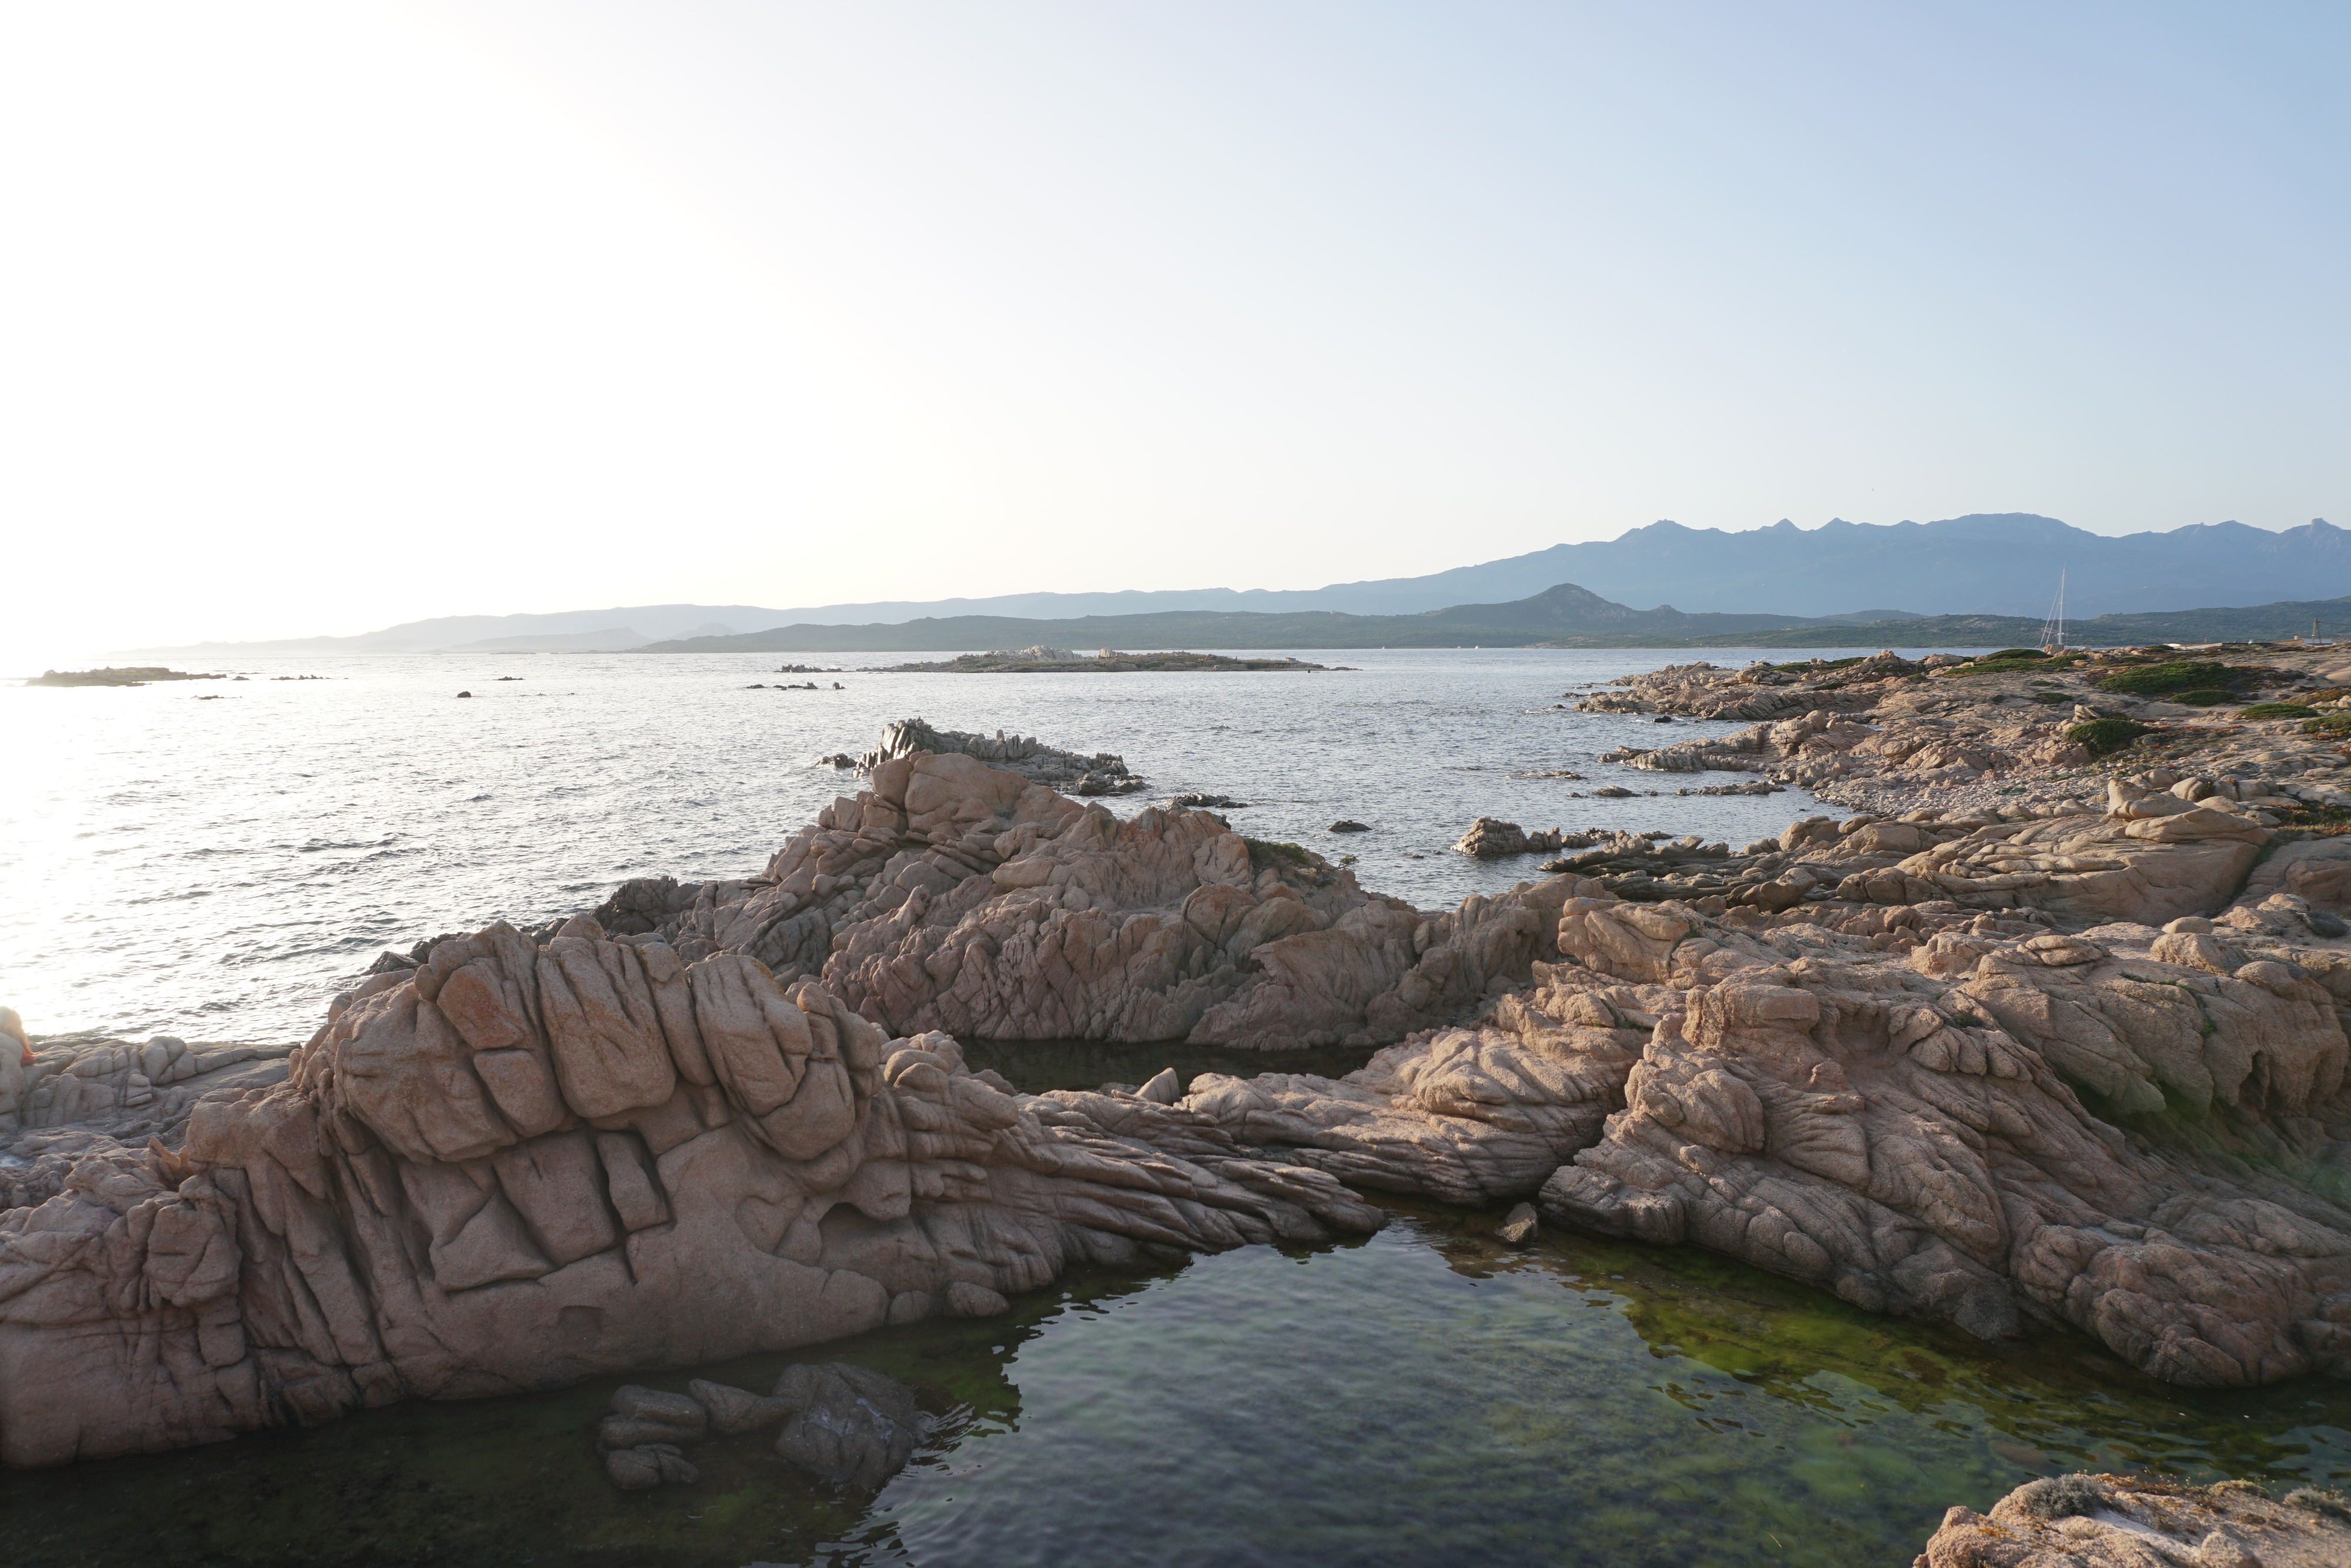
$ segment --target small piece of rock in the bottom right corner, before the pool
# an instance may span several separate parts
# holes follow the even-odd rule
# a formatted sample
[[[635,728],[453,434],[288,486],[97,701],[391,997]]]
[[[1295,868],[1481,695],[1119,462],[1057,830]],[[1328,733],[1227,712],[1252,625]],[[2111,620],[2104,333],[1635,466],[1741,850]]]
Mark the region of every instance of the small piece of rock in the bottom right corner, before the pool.
[[[2250,1481],[2172,1486],[2132,1476],[2027,1481],[1991,1514],[1951,1509],[1911,1568],[2342,1568],[2351,1502]]]

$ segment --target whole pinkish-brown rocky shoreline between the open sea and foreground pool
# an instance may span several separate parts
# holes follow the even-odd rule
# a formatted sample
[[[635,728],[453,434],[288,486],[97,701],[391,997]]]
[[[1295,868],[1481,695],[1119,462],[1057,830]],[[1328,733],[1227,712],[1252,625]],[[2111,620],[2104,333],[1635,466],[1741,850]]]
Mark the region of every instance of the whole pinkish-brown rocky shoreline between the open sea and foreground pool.
[[[2071,1328],[2182,1385],[2351,1375],[2318,661],[2262,661],[2309,717],[2222,722],[2076,717],[2062,682],[2156,658],[1639,677],[1587,701],[1766,705],[1655,771],[1836,764],[1810,788],[1907,809],[1622,835],[1436,914],[898,733],[759,875],[388,954],[289,1056],[0,1063],[0,1460],[985,1312],[1072,1258],[1375,1227],[1349,1187]],[[2064,733],[2104,717],[2158,741]],[[957,1037],[1382,1048],[1023,1095]]]

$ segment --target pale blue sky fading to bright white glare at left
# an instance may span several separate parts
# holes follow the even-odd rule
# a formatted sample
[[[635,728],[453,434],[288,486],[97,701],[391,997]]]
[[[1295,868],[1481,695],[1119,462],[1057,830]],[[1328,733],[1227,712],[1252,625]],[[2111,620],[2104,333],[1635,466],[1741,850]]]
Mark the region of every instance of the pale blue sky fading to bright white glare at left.
[[[0,663],[2351,522],[2346,75],[2290,2],[0,0]]]

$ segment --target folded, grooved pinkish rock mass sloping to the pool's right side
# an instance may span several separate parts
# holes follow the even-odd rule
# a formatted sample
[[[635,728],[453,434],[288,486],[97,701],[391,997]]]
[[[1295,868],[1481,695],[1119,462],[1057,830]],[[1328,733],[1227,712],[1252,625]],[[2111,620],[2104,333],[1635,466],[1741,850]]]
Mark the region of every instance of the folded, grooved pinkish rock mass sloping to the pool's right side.
[[[1874,914],[1575,898],[1561,961],[1474,1027],[1345,1079],[1204,1074],[1178,1110],[1361,1187],[1540,1190],[1556,1222],[1876,1312],[2064,1321],[2172,1382],[2351,1373],[2342,954]]]

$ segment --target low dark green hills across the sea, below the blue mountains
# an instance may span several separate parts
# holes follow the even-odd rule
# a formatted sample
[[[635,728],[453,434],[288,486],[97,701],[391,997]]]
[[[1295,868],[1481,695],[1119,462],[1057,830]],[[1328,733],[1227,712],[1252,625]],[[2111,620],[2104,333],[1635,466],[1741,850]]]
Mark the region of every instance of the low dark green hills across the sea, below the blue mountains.
[[[2351,637],[2351,595],[2288,599],[2255,609],[2186,609],[2146,616],[2099,616],[2069,625],[2069,642],[2252,642],[2292,637],[2318,621],[2323,635]],[[1914,616],[1869,623],[1801,621],[1796,616],[1683,614],[1632,609],[1575,583],[1559,583],[1509,604],[1455,604],[1425,616],[1218,614],[1079,616],[1023,621],[1016,616],[947,616],[905,625],[781,625],[738,637],[679,637],[639,654],[952,654],[1025,649],[1980,649],[2034,642],[2034,616]]]

